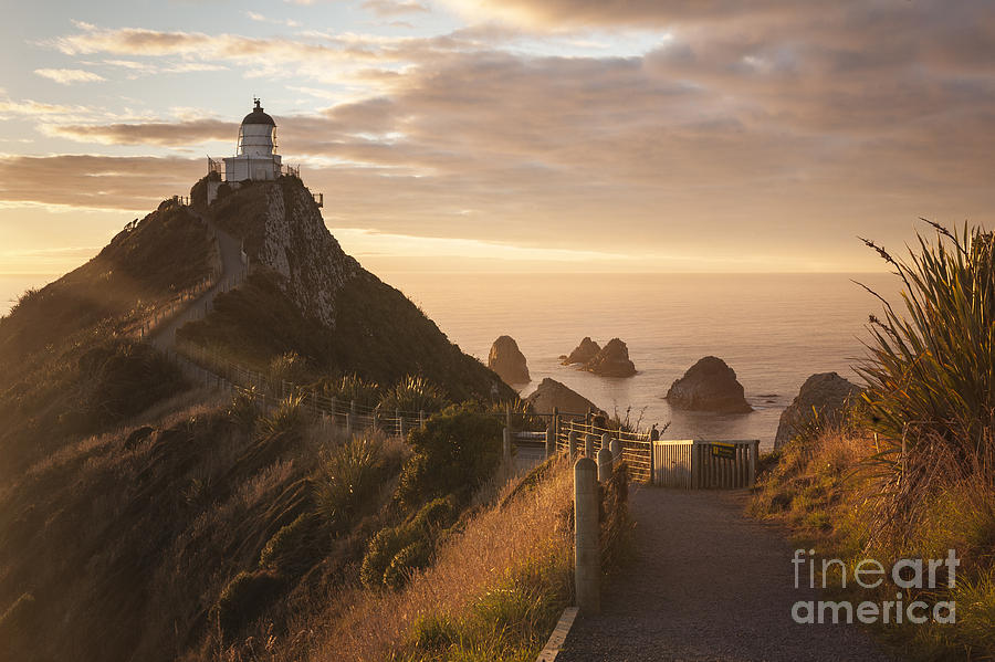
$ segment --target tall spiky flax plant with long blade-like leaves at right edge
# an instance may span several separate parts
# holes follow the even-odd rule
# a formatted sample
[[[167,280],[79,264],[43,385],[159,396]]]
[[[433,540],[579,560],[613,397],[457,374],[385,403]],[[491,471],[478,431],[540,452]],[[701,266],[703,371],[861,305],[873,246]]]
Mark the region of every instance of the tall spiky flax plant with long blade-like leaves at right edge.
[[[929,439],[976,454],[995,422],[993,235],[926,222],[936,241],[918,235],[909,260],[863,240],[901,277],[904,309],[871,291],[883,318],[871,316],[870,356],[857,369],[869,385],[871,424],[893,443]]]

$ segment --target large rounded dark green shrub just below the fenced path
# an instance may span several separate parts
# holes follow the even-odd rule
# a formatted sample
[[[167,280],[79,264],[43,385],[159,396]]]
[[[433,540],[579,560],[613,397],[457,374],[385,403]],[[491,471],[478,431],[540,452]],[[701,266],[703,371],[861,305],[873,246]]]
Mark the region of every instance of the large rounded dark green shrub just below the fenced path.
[[[450,407],[411,431],[397,500],[411,507],[438,496],[464,501],[501,462],[501,423],[472,406]]]

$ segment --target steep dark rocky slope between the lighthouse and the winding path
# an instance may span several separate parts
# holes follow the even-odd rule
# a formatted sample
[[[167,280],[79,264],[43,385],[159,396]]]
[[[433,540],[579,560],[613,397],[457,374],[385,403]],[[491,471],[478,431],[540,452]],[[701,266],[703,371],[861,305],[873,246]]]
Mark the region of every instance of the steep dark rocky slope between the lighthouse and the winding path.
[[[342,250],[300,179],[242,186],[203,209],[242,238],[252,275],[218,297],[211,315],[184,327],[182,340],[258,369],[295,353],[313,376],[356,372],[390,385],[421,375],[457,400],[489,398],[494,385],[512,396],[404,294]]]

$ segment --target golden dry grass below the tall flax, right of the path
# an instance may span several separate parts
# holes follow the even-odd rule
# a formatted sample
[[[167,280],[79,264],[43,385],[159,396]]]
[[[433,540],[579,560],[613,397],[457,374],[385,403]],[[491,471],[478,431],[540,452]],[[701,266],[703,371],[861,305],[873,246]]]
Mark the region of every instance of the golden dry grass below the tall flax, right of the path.
[[[842,559],[850,576],[863,558],[890,567],[900,558],[945,558],[955,549],[961,560],[956,587],[913,592],[907,602],[953,600],[956,626],[905,622],[879,626],[880,633],[902,659],[995,658],[995,463],[965,463],[942,452],[944,445],[919,443],[915,453],[939,451],[929,461],[909,458],[909,466],[928,475],[910,473],[902,480],[891,466],[882,466],[878,450],[883,445],[838,430],[793,442],[761,479],[752,513],[788,525],[798,547]],[[894,491],[907,484],[914,494],[897,497]],[[838,578],[830,577],[829,586],[838,586]],[[893,597],[893,587],[887,587],[880,595],[853,586],[837,592],[880,601]]]

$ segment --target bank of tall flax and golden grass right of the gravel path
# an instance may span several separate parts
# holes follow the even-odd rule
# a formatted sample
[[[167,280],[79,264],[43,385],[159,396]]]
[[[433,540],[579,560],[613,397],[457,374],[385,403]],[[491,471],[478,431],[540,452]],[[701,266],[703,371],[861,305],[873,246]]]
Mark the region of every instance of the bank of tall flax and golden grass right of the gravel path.
[[[813,417],[767,459],[755,514],[788,523],[799,547],[856,564],[940,559],[956,586],[908,589],[905,603],[956,603],[956,624],[881,627],[903,659],[995,656],[995,242],[934,225],[907,261],[867,242],[902,280],[884,300],[860,367],[868,388],[845,416]],[[945,578],[943,578],[945,579]],[[838,577],[829,579],[839,586]],[[845,597],[894,598],[894,585]]]

